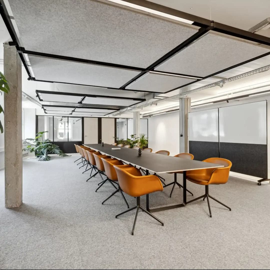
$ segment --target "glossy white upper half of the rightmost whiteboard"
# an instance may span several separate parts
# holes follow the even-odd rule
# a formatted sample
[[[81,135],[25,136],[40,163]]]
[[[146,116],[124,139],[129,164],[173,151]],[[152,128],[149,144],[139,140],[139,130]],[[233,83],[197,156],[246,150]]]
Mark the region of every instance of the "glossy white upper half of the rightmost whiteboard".
[[[219,108],[220,142],[266,144],[266,100]]]

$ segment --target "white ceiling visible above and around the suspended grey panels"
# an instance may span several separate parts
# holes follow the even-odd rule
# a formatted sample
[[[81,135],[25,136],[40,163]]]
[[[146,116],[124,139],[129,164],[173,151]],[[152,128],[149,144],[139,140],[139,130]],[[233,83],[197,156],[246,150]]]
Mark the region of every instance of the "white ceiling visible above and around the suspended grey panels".
[[[12,0],[14,1],[14,0]],[[17,0],[16,0],[17,1]],[[15,1],[15,2],[16,2]],[[240,29],[248,30],[258,22],[270,16],[270,1],[269,0],[149,0],[157,4],[166,5],[174,9],[178,9],[190,14],[194,14],[206,19],[211,19],[220,23],[224,23],[230,26],[234,26]],[[257,32],[261,35],[270,37],[270,29],[266,31]],[[143,38],[143,37],[142,37]],[[10,37],[2,18],[0,17],[0,42],[10,41]],[[158,46],[158,44],[155,44]],[[0,46],[0,59],[3,58],[2,46]],[[232,77],[239,75],[241,73],[253,70],[262,66],[270,65],[270,57],[265,57],[263,59],[255,60],[254,62],[245,64],[243,66],[237,67],[233,70],[229,70],[217,76],[221,77]],[[23,71],[25,73],[25,71]],[[194,104],[199,100],[209,99],[213,96],[227,95],[228,97],[233,95],[232,93],[246,90],[249,88],[255,88],[249,90],[249,92],[258,92],[259,88],[264,87],[270,84],[268,80],[270,73],[264,72],[257,75],[252,75],[245,77],[243,79],[226,83],[222,88],[219,86],[211,87],[209,89],[201,90],[200,92],[190,94],[192,102]],[[58,91],[58,92],[77,92],[85,94],[99,94],[99,95],[112,95],[112,96],[125,96],[125,97],[144,97],[144,93],[133,91],[123,91],[123,90],[114,90],[106,88],[96,88],[96,87],[86,87],[86,86],[76,86],[76,85],[67,85],[67,84],[52,84],[52,83],[43,83],[43,82],[32,82],[27,80],[26,73],[23,75],[23,92],[27,93],[31,97],[35,98],[35,90],[49,90],[49,91]],[[167,94],[160,94],[160,96],[168,97],[177,95],[181,92],[185,92],[191,89],[195,89],[213,82],[218,81],[219,79],[208,78],[204,81],[194,83],[192,85],[174,90],[173,92]],[[133,87],[130,87],[131,89]],[[235,94],[236,95],[236,94]],[[151,96],[146,96],[149,99]],[[224,97],[223,97],[224,98]],[[220,99],[223,99],[220,98]],[[153,99],[150,99],[152,101]],[[205,102],[205,101],[204,101]],[[33,104],[33,107],[36,106]],[[178,100],[173,99],[167,102],[161,102],[157,106],[149,106],[140,110],[141,113],[153,112],[160,109],[171,108],[178,106]],[[131,117],[132,113],[123,114],[123,117]],[[122,117],[121,116],[121,117]]]

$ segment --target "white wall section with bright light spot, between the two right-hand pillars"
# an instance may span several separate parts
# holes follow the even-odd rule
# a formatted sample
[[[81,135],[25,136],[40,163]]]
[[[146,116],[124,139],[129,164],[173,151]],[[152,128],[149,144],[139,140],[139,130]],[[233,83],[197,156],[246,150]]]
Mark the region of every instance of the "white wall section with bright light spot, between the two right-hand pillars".
[[[179,112],[160,114],[148,118],[148,147],[153,152],[170,151],[179,154]]]

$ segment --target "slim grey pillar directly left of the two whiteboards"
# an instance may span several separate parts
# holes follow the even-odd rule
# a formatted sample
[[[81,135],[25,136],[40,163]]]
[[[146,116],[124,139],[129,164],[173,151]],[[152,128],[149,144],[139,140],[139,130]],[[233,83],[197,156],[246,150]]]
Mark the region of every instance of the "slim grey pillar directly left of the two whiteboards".
[[[188,153],[188,112],[190,98],[179,99],[179,153]],[[182,136],[181,136],[182,135]]]

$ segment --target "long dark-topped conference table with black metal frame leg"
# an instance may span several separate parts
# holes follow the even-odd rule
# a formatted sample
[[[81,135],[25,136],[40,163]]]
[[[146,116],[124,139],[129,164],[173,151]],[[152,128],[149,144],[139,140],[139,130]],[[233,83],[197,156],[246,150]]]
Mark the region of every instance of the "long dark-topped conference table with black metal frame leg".
[[[183,171],[183,203],[168,205],[165,207],[149,208],[149,194],[146,195],[146,209],[149,212],[157,212],[163,210],[169,210],[178,207],[184,207],[187,203],[187,179],[186,171],[197,170],[197,169],[208,169],[208,168],[219,168],[224,167],[223,165],[208,163],[197,160],[190,160],[181,157],[165,156],[161,154],[155,154],[150,152],[142,151],[141,156],[138,155],[138,150],[130,149],[125,147],[119,147],[120,150],[113,150],[117,146],[112,146],[111,144],[83,144],[90,149],[96,150],[107,156],[111,156],[124,163],[131,164],[137,168],[142,168],[146,170],[146,175],[149,171],[156,174],[160,173],[175,173],[178,171]]]

